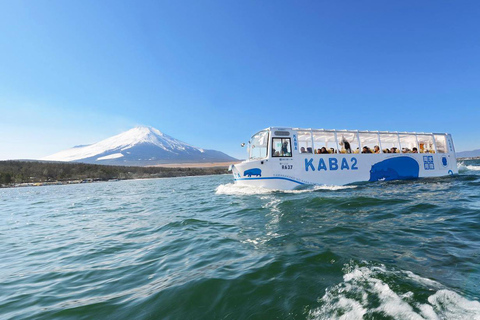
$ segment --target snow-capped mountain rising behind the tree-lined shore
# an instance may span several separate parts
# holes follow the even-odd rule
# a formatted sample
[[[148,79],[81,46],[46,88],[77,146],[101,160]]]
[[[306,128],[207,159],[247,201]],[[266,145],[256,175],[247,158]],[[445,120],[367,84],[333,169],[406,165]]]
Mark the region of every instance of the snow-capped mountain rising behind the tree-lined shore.
[[[144,166],[236,159],[220,151],[191,146],[152,127],[136,127],[95,144],[73,147],[40,160]]]

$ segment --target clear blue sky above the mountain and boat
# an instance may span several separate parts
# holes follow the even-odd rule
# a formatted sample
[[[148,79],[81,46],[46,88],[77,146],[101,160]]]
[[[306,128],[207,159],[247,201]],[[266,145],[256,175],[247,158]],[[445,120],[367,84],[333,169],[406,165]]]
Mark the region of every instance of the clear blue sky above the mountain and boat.
[[[0,0],[0,159],[136,125],[245,157],[269,126],[480,148],[480,1]]]

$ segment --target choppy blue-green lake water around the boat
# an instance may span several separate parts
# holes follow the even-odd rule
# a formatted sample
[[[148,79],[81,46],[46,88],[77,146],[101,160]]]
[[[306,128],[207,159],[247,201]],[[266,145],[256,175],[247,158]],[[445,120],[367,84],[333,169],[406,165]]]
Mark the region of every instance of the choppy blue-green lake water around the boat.
[[[480,161],[291,192],[0,190],[1,319],[480,319]]]

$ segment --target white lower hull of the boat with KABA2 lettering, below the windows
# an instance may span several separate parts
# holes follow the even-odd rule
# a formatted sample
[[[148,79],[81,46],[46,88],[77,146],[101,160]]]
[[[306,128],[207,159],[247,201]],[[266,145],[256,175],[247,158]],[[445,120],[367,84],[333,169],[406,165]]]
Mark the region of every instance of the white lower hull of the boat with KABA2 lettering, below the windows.
[[[247,160],[231,169],[236,184],[280,190],[458,173],[456,158],[449,153],[298,154],[290,158]]]

